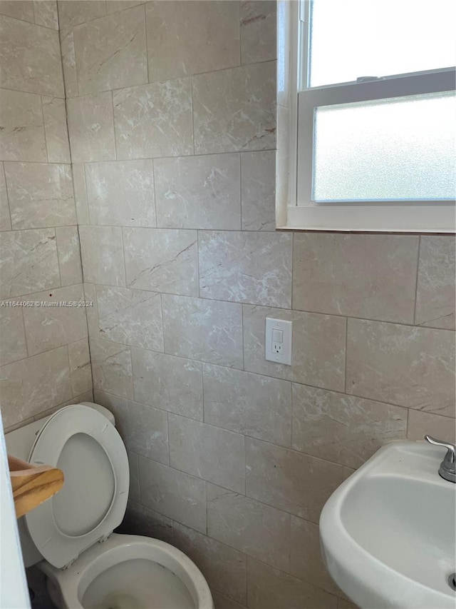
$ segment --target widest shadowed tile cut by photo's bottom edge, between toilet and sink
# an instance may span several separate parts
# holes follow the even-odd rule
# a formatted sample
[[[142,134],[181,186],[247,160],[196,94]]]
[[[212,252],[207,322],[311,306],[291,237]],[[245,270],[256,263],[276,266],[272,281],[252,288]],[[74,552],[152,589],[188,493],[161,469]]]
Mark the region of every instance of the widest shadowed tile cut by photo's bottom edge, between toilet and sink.
[[[247,590],[251,609],[336,609],[337,598],[310,583],[249,558]]]

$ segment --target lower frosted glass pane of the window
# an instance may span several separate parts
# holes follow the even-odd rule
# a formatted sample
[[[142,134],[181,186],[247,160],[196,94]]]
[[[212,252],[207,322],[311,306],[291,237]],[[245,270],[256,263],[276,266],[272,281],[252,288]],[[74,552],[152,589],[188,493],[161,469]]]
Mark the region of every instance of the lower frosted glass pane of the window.
[[[454,92],[320,106],[314,201],[452,199]]]

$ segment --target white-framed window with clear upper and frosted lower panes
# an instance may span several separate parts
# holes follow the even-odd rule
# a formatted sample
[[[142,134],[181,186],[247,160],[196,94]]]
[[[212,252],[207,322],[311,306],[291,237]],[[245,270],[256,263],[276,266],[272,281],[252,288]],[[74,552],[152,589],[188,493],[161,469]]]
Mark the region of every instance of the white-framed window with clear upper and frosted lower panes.
[[[279,45],[288,21],[291,50],[279,49],[278,161],[290,129],[279,222],[454,232],[456,3],[279,4]]]

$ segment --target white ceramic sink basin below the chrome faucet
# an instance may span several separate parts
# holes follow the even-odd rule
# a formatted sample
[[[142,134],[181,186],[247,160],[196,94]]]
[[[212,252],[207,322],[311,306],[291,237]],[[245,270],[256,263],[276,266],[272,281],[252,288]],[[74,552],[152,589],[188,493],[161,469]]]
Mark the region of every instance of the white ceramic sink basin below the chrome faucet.
[[[456,485],[438,475],[445,453],[390,443],[326,502],[323,560],[361,609],[455,609]]]

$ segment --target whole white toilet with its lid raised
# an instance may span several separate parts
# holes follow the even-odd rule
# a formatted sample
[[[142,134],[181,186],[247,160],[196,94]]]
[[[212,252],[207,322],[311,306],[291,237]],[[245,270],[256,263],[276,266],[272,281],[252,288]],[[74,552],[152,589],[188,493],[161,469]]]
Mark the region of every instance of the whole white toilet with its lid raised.
[[[113,414],[83,402],[6,434],[11,456],[61,468],[59,493],[18,520],[26,567],[59,609],[214,609],[202,573],[169,543],[119,535],[129,468]]]

